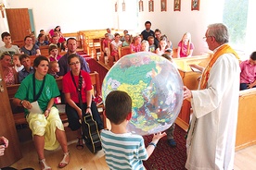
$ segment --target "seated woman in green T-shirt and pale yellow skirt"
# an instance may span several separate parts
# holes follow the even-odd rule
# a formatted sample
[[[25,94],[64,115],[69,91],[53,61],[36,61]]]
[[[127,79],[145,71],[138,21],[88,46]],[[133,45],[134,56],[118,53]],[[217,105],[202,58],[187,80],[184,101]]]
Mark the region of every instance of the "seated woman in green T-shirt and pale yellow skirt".
[[[64,167],[70,162],[66,134],[54,104],[59,95],[56,80],[47,74],[49,61],[39,55],[33,62],[34,74],[22,80],[15,94],[14,103],[23,106],[27,122],[32,130],[32,137],[38,154],[41,169],[51,169],[45,162],[45,150],[55,150],[59,144],[64,157],[58,167]],[[39,108],[36,109],[36,104]]]

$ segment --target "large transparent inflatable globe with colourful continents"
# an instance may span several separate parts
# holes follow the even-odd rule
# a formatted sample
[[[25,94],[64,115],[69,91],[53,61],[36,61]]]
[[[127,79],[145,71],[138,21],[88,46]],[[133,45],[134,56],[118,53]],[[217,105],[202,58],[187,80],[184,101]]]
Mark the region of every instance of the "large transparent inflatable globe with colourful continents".
[[[170,128],[183,103],[183,82],[172,62],[160,55],[139,52],[123,56],[103,80],[103,102],[110,91],[132,98],[128,131],[149,135]]]

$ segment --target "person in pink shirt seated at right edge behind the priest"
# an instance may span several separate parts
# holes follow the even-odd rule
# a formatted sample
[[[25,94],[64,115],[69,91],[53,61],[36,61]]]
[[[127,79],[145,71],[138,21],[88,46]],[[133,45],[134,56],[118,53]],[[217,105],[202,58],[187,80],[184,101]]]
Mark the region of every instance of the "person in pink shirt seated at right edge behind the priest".
[[[256,52],[250,59],[240,63],[240,91],[256,88]]]

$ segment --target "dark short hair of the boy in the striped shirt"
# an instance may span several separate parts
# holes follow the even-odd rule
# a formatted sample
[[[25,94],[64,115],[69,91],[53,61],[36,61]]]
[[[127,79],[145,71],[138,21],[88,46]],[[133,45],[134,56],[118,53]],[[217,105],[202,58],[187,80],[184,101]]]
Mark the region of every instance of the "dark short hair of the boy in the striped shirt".
[[[132,112],[132,99],[124,91],[111,91],[106,98],[105,106],[105,114],[109,121],[119,125]]]

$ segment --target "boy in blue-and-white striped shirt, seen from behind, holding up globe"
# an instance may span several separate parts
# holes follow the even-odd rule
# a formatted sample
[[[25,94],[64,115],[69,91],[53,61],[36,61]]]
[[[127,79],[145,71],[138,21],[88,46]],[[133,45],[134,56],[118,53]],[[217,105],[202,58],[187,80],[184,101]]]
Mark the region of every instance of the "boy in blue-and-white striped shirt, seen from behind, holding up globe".
[[[109,118],[111,130],[102,130],[100,136],[109,168],[145,169],[142,161],[147,160],[166,133],[154,134],[146,149],[142,136],[127,132],[126,129],[132,117],[131,97],[124,91],[111,91],[105,106],[105,115]]]

